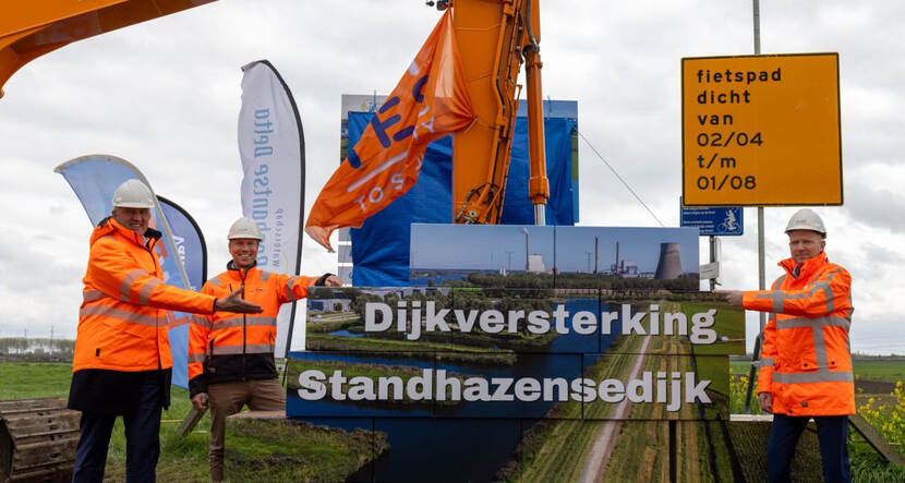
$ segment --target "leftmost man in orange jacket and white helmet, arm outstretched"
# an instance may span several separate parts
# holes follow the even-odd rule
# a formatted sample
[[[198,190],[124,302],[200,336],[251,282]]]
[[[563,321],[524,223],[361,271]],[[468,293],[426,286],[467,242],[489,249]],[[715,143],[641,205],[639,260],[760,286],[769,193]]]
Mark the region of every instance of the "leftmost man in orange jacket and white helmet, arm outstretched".
[[[90,237],[69,394],[69,408],[82,411],[74,482],[104,480],[118,415],[125,427],[126,481],[155,480],[172,374],[166,311],[261,311],[238,292],[216,298],[164,283],[155,253],[160,232],[148,228],[152,207],[150,190],[128,180],[113,194],[111,216]]]

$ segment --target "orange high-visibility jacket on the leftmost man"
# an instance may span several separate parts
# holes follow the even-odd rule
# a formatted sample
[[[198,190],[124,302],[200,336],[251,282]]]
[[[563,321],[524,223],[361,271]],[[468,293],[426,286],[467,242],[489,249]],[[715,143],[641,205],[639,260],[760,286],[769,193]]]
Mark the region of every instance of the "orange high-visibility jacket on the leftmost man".
[[[90,238],[72,372],[154,371],[172,367],[167,310],[213,313],[213,295],[164,283],[154,252],[160,232],[142,236],[113,218]]]

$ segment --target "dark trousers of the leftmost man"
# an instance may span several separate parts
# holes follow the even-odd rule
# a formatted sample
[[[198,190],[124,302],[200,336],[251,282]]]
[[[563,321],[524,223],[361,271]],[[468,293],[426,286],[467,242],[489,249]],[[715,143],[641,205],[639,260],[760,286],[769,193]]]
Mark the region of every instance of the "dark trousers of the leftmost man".
[[[159,377],[146,377],[137,408],[122,415],[125,426],[125,481],[129,483],[154,482],[157,478],[155,470],[160,456],[161,397]],[[73,483],[104,481],[107,448],[116,420],[117,414],[82,412]]]

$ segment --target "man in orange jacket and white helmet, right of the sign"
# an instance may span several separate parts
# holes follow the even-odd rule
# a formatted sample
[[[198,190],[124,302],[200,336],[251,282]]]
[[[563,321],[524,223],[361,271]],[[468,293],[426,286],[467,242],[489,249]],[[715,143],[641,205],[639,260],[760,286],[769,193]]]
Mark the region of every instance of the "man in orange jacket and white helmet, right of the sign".
[[[780,262],[785,274],[771,290],[717,292],[734,305],[770,312],[758,376],[760,407],[773,413],[769,480],[789,480],[795,445],[813,418],[824,481],[848,482],[848,414],[855,413],[852,276],[826,258],[826,229],[813,210],[798,210],[785,231],[792,257]]]

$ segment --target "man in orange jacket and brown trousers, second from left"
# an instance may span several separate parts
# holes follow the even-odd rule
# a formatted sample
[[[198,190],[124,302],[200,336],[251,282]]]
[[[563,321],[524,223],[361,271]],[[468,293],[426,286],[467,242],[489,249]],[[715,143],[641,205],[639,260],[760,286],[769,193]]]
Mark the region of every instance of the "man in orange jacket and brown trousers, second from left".
[[[253,316],[215,312],[192,318],[189,331],[189,393],[192,404],[203,411],[210,403],[210,480],[224,480],[226,419],[248,404],[253,410],[286,410],[286,391],[277,381],[274,342],[280,305],[307,295],[311,286],[338,287],[339,277],[325,274],[315,279],[274,274],[257,268],[257,249],[263,239],[257,224],[239,218],[229,229],[227,270],[207,280],[203,293],[221,297],[239,290],[241,297],[261,305]]]

